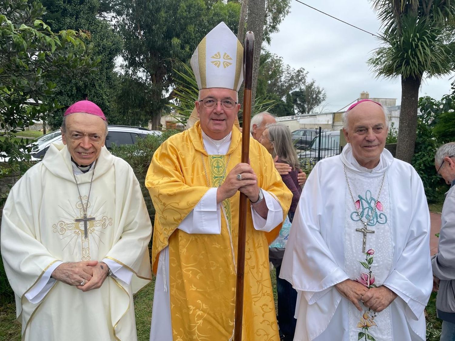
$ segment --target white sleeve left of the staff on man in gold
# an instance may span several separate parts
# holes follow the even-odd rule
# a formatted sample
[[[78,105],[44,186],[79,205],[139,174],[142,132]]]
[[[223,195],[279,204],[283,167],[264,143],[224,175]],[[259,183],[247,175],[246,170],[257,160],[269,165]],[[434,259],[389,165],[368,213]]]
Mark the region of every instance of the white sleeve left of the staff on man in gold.
[[[218,187],[210,188],[178,226],[187,233],[221,233],[221,203],[217,204]]]

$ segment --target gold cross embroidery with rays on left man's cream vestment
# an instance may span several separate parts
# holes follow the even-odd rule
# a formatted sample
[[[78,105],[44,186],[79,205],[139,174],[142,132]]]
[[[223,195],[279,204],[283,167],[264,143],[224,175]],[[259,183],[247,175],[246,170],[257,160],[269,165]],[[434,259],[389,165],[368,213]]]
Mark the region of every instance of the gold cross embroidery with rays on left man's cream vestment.
[[[87,196],[83,197],[83,201],[87,202]],[[61,207],[61,206],[60,206]],[[76,209],[79,210],[79,216],[76,216],[74,219],[80,219],[84,217],[84,211],[82,209],[82,204],[80,201],[76,202]],[[87,202],[87,210],[91,207],[91,203]],[[63,208],[61,207],[63,210]],[[64,210],[63,210],[64,211]],[[97,212],[91,212],[90,215],[87,215],[89,218],[96,216]],[[112,226],[112,218],[107,216],[102,216],[99,220],[87,221],[88,227],[88,238],[84,238],[84,223],[82,221],[74,221],[68,223],[66,221],[59,221],[56,224],[52,225],[52,231],[62,236],[62,241],[66,241],[63,250],[66,247],[72,247],[73,252],[78,247],[78,240],[80,237],[81,244],[81,261],[90,261],[90,240],[92,240],[96,246],[98,243],[102,243],[102,235],[104,232],[102,230],[106,229],[108,226]]]

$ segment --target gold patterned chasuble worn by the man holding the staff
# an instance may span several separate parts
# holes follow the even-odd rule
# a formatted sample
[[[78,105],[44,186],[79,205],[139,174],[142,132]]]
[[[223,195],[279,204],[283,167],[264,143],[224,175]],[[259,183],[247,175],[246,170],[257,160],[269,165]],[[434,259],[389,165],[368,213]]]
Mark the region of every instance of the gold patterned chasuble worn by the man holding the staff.
[[[177,226],[210,187],[221,186],[241,162],[241,134],[233,127],[227,155],[207,155],[201,125],[170,137],[155,152],[146,186],[156,209],[152,261],[169,246],[169,279],[174,341],[231,340],[234,328],[239,193],[222,202],[221,234],[188,234]],[[273,195],[286,215],[292,193],[276,171],[268,151],[250,141],[250,164],[258,186]],[[284,219],[284,217],[283,217]],[[248,209],[243,340],[278,341],[270,281],[268,244],[281,228],[253,228]]]

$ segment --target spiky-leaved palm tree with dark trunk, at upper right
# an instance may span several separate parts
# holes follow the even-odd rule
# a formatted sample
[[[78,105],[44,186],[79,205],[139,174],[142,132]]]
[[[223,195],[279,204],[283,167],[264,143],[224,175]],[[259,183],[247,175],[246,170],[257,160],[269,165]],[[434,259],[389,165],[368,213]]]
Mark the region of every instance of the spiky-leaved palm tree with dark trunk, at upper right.
[[[455,1],[370,1],[384,32],[382,46],[368,63],[378,77],[401,77],[396,157],[410,162],[422,78],[441,77],[455,70]]]

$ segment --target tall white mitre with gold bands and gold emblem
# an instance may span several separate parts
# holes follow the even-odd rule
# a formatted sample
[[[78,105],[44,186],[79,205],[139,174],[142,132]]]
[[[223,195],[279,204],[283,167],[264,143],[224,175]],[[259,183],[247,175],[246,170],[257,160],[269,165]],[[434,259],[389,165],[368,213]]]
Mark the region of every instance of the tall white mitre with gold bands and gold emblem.
[[[199,90],[238,91],[243,82],[243,46],[229,27],[220,22],[197,45],[191,67]]]

